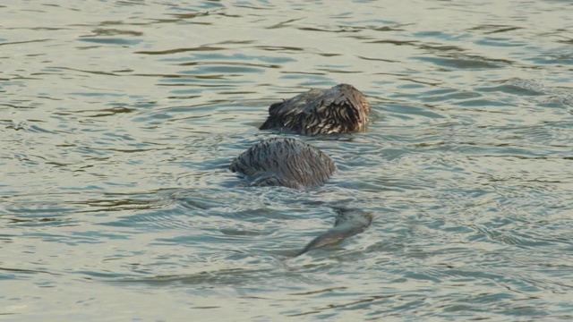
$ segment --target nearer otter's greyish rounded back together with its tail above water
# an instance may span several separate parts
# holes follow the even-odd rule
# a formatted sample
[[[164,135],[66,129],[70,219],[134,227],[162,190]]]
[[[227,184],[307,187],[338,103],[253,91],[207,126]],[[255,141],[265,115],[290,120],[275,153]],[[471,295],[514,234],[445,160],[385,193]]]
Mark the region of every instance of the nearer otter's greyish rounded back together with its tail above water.
[[[320,186],[336,170],[334,161],[318,148],[292,138],[263,140],[231,163],[232,172],[244,174],[253,186],[284,186],[304,190]],[[362,233],[372,223],[372,214],[356,209],[338,209],[334,227],[310,242],[296,256],[346,237]]]

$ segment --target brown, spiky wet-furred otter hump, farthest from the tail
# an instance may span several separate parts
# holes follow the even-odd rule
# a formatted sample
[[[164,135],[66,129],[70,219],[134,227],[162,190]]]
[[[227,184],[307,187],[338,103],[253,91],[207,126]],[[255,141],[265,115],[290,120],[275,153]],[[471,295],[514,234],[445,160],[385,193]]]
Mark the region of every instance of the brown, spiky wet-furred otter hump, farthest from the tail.
[[[306,93],[269,107],[269,118],[261,130],[279,129],[304,135],[366,131],[370,104],[348,84]]]

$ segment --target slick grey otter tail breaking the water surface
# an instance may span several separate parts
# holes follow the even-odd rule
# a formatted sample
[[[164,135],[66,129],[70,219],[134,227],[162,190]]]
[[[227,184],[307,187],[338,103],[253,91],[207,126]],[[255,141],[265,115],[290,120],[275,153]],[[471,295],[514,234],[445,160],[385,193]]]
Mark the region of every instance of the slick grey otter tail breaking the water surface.
[[[295,257],[303,255],[309,250],[316,250],[327,245],[335,245],[338,242],[342,242],[346,237],[362,233],[371,224],[371,212],[338,208],[338,217],[334,227],[313,239],[312,242],[309,242],[303,250],[296,253]]]

